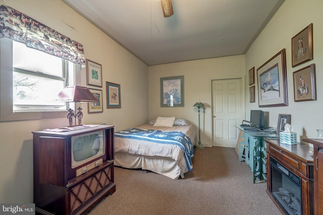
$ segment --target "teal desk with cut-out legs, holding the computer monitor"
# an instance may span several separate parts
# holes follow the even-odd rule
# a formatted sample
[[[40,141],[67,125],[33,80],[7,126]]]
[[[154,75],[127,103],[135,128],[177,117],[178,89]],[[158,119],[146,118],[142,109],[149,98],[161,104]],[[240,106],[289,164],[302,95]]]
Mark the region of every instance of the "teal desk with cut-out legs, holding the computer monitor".
[[[264,138],[279,138],[279,134],[236,127],[239,129],[237,141],[239,161],[245,162],[250,167],[253,173],[253,183],[265,182],[267,180],[267,153]]]

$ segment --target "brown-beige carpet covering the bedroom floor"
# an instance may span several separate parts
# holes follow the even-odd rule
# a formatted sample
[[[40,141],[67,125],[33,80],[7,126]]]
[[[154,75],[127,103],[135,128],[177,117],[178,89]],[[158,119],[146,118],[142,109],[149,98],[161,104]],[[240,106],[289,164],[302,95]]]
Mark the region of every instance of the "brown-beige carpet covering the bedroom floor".
[[[282,214],[235,149],[194,149],[192,162],[178,180],[115,167],[116,192],[88,214]]]

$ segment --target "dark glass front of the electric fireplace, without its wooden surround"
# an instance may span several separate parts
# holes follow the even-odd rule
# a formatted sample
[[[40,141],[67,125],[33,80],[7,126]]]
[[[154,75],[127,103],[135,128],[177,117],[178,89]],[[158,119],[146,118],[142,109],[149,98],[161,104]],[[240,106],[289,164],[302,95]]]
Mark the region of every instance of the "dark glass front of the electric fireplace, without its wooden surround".
[[[286,214],[302,214],[301,178],[270,158],[271,194]]]

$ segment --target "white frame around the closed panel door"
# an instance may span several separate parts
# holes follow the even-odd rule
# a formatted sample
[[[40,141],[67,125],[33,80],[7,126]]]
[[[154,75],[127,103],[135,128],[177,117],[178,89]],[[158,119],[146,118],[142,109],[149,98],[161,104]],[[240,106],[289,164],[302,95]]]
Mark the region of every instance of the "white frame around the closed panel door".
[[[241,98],[243,98],[241,100],[241,108],[242,108],[242,111],[241,111],[241,117],[242,119],[245,119],[246,118],[246,90],[245,90],[245,76],[241,76],[241,77],[233,77],[233,78],[222,78],[222,79],[211,79],[211,129],[212,129],[212,139],[211,139],[211,144],[212,144],[212,147],[213,147],[213,144],[214,144],[214,120],[213,120],[213,81],[221,81],[221,80],[234,80],[234,79],[240,79],[241,80]],[[238,129],[238,128],[237,128]]]

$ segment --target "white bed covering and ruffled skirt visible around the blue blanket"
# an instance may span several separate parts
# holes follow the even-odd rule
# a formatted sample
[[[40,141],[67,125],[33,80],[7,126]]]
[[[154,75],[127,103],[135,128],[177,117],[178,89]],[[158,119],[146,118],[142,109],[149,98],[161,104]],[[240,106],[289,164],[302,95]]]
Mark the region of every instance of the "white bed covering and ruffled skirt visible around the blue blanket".
[[[196,137],[194,126],[191,124],[173,127],[142,125],[137,128],[181,131],[189,136],[192,145]],[[129,169],[150,170],[172,179],[179,176],[184,178],[184,173],[188,171],[183,150],[179,146],[120,137],[115,137],[115,165]]]

